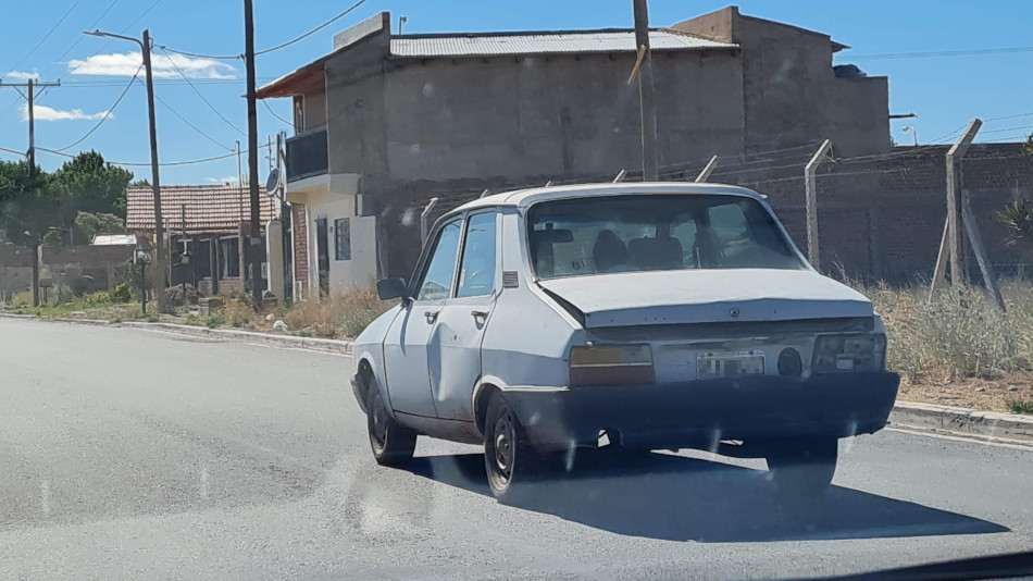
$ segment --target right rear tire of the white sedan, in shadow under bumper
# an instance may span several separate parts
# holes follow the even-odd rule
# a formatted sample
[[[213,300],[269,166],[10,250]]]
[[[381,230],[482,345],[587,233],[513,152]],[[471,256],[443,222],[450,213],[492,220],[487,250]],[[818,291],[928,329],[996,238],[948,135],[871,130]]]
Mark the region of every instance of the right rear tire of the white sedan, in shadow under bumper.
[[[768,456],[768,471],[781,493],[817,496],[832,484],[838,456],[838,441],[834,437],[786,443]]]

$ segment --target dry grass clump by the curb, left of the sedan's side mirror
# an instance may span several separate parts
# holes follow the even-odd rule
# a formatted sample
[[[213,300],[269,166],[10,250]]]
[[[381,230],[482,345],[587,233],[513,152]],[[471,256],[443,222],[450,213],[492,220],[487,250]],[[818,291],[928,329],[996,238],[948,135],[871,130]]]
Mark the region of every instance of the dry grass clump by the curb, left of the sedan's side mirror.
[[[381,300],[372,288],[353,288],[322,300],[297,302],[283,314],[283,320],[291,330],[309,330],[316,337],[354,338],[395,305]]]

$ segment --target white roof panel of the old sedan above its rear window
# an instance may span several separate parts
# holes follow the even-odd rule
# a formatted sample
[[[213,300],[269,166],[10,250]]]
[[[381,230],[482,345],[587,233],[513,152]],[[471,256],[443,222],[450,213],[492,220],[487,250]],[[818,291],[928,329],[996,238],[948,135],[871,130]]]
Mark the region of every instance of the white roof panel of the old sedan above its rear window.
[[[639,183],[600,183],[600,184],[576,184],[569,186],[544,186],[528,189],[518,189],[513,191],[503,191],[491,194],[483,198],[466,202],[453,212],[474,210],[477,208],[509,206],[520,209],[528,208],[539,201],[587,198],[592,196],[620,196],[620,195],[671,195],[671,194],[710,194],[725,196],[746,196],[755,199],[763,199],[763,196],[751,189],[739,186],[730,186],[725,184],[707,184],[697,182],[639,182]]]

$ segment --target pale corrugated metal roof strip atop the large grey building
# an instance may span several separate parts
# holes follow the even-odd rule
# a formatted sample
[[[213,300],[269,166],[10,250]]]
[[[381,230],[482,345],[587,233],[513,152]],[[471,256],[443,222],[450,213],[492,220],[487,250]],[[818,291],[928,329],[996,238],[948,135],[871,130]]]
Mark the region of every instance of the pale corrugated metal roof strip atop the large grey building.
[[[660,29],[649,32],[654,50],[731,49],[738,45]],[[583,52],[634,52],[634,30],[585,30],[562,33],[493,33],[463,35],[412,35],[391,37],[394,57],[488,57]]]

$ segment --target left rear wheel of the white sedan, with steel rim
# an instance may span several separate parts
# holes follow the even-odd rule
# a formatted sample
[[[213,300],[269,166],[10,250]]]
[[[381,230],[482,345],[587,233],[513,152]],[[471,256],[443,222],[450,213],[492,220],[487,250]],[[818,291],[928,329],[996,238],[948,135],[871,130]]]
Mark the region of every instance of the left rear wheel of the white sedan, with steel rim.
[[[538,463],[513,408],[502,394],[493,394],[484,421],[484,467],[491,494],[502,504],[519,504],[527,497]]]

